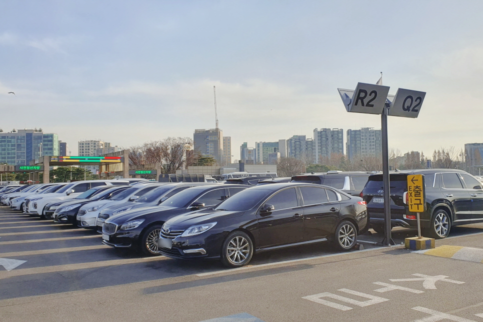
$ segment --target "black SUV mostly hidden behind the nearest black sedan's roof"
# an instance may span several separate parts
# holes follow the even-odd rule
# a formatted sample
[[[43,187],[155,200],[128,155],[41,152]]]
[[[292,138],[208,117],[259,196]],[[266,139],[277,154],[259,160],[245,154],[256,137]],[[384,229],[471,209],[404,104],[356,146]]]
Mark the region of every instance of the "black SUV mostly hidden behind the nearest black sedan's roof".
[[[358,195],[364,188],[369,175],[374,172],[362,171],[328,171],[320,173],[304,173],[292,176],[290,182],[305,182],[328,185],[347,194]]]

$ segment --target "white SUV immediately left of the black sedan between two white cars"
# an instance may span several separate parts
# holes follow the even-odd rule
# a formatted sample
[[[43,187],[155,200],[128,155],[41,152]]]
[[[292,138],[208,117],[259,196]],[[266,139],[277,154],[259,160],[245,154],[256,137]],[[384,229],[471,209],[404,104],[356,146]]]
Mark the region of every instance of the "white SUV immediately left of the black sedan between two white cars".
[[[43,216],[43,210],[48,202],[68,200],[76,197],[82,192],[99,185],[125,185],[127,181],[121,180],[85,180],[75,181],[64,185],[54,193],[45,193],[43,195],[32,195],[25,198],[25,213],[30,215]]]

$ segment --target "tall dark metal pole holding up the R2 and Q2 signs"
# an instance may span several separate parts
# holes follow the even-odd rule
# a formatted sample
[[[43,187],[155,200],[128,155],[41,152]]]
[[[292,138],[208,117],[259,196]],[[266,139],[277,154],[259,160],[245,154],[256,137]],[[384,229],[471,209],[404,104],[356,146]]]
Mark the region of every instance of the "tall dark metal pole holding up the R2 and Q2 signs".
[[[391,208],[389,191],[389,148],[387,147],[387,107],[382,109],[380,115],[381,134],[382,134],[382,189],[384,190],[384,239],[383,245],[394,245],[391,238]]]

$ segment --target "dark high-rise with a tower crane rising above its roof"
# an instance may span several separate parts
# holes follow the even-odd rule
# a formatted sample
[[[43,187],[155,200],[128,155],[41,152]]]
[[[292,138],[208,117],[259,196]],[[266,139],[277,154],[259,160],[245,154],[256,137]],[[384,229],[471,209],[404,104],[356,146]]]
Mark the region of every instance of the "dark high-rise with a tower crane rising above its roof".
[[[195,129],[193,141],[194,149],[201,155],[211,156],[217,163],[223,163],[223,131],[221,129]]]

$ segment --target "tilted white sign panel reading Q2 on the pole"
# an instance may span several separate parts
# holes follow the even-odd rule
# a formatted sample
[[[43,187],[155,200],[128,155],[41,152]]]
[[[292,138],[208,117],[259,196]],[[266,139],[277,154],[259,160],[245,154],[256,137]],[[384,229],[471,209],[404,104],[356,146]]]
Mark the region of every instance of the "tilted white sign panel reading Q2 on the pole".
[[[416,118],[425,95],[424,91],[398,88],[389,108],[389,115]]]

